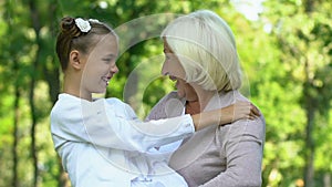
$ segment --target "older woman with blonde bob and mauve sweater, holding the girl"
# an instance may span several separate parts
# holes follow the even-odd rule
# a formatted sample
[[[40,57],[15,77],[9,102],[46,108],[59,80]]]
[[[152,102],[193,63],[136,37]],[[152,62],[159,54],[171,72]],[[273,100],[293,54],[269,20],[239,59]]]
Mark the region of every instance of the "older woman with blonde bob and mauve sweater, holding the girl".
[[[200,10],[177,18],[162,38],[166,55],[162,73],[176,81],[177,91],[162,98],[148,120],[248,101],[238,91],[241,70],[235,37],[216,13]],[[179,143],[169,165],[189,186],[260,186],[264,126],[262,115],[208,126]]]

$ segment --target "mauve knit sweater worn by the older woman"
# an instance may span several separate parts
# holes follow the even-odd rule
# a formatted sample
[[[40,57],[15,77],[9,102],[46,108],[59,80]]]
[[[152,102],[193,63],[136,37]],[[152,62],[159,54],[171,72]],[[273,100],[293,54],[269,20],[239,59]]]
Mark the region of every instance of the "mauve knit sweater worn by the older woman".
[[[235,101],[248,101],[238,91],[219,93],[204,111],[225,107]],[[176,92],[164,96],[147,120],[178,116],[184,100]],[[184,141],[172,155],[169,166],[190,187],[261,186],[261,163],[266,123],[261,115],[255,121],[241,120],[225,126],[209,126]]]

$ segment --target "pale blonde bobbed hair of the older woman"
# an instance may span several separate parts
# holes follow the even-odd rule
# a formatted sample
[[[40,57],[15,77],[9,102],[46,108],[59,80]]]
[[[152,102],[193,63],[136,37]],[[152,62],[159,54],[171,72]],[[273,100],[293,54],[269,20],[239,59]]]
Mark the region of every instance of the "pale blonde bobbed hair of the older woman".
[[[177,55],[188,83],[210,91],[241,86],[235,37],[216,13],[199,10],[179,17],[166,27],[162,38]]]

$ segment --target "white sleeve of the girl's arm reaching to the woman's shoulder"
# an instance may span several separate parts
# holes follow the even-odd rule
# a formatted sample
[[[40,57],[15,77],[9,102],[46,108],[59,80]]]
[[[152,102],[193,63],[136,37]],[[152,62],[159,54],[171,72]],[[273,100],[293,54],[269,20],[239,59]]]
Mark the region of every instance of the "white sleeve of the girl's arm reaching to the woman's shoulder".
[[[106,100],[98,100],[82,102],[81,107],[52,111],[51,131],[55,148],[65,141],[71,141],[146,152],[151,147],[181,139],[195,132],[189,115],[143,123],[128,105],[121,103],[111,105]]]

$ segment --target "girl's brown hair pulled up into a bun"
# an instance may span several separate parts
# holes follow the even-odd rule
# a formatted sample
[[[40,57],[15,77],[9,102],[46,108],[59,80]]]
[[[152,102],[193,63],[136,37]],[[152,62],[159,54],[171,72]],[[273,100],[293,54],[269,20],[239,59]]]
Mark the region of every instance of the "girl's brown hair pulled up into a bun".
[[[75,24],[75,19],[65,17],[60,22],[60,33],[56,39],[56,54],[61,63],[62,71],[65,71],[69,62],[69,54],[72,50],[87,53],[90,49],[98,42],[98,35],[113,34],[115,32],[105,23],[96,20],[89,21],[91,30],[82,32]]]

